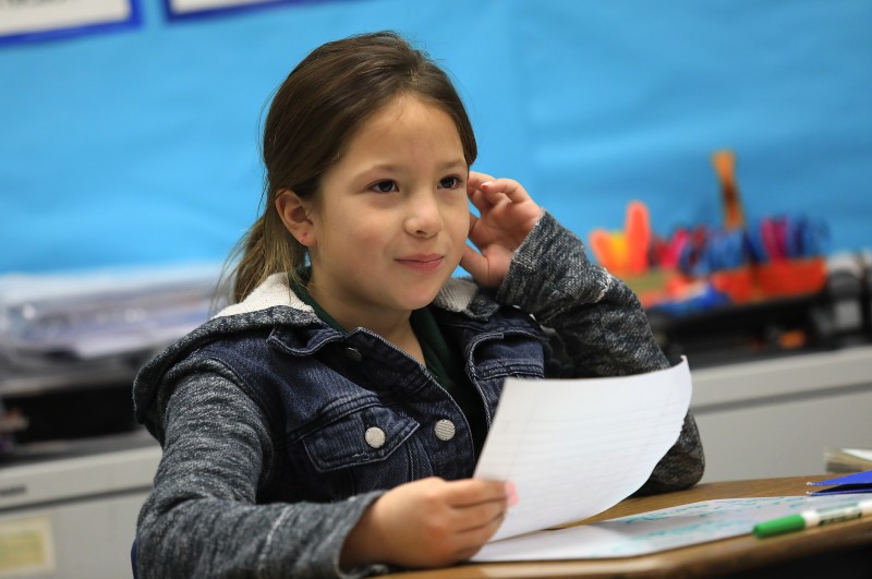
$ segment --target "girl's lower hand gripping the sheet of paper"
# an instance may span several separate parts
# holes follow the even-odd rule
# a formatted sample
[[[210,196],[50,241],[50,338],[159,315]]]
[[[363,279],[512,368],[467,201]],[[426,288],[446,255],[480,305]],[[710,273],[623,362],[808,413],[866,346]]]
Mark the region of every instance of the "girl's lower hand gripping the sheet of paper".
[[[437,567],[468,559],[494,535],[517,502],[500,481],[422,479],[379,497],[349,533],[340,563]]]

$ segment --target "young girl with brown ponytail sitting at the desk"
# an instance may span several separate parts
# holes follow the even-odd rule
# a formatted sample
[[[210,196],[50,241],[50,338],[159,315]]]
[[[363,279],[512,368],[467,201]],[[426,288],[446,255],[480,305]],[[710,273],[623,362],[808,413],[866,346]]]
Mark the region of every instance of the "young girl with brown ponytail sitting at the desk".
[[[141,578],[465,559],[517,500],[470,479],[507,376],[668,366],[635,297],[576,236],[516,181],[470,171],[459,96],[399,36],[313,51],[277,92],[263,148],[234,303],[134,384],[164,448]],[[641,492],[702,469],[688,415]]]

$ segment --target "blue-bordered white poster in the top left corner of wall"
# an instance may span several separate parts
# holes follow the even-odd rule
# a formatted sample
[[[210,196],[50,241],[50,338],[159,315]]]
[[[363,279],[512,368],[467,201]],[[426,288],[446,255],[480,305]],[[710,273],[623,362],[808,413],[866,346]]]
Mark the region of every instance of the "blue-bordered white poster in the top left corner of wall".
[[[136,27],[140,0],[0,0],[0,45]]]

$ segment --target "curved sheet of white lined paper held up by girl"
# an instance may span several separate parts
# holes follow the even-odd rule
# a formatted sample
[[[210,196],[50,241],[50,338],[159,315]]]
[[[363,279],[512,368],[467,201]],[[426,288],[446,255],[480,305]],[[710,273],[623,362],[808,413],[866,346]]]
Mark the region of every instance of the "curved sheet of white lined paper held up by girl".
[[[690,406],[685,358],[608,378],[509,378],[476,479],[514,483],[520,500],[492,541],[592,517],[637,491],[678,439]]]

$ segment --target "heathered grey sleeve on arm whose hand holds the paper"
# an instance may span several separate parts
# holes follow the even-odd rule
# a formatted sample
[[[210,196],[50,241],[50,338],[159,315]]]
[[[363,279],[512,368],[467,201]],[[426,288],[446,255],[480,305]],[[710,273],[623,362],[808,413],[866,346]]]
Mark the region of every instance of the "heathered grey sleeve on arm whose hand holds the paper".
[[[189,370],[166,400],[164,456],[137,523],[138,577],[386,572],[339,568],[346,536],[379,494],[256,504],[274,451],[264,415],[217,362]]]

